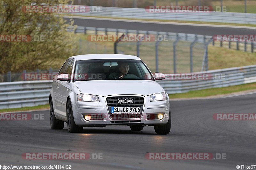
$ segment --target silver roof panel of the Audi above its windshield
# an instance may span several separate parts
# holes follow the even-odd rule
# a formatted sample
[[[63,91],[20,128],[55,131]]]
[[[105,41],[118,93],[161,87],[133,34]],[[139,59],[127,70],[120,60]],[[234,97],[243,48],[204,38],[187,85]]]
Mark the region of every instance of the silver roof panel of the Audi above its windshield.
[[[70,57],[71,58],[71,57]],[[85,54],[72,56],[75,60],[92,60],[92,59],[132,59],[140,60],[135,55],[124,55],[124,54]]]

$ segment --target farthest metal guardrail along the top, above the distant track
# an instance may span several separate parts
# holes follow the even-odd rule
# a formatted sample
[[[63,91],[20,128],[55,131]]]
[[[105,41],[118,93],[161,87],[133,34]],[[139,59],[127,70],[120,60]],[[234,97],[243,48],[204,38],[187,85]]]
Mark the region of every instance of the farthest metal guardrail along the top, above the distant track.
[[[93,11],[93,6],[89,6]],[[137,18],[137,19],[162,19],[175,21],[201,21],[236,24],[256,24],[256,14],[238,12],[147,12],[142,8],[103,7],[102,11],[68,13],[82,16]]]

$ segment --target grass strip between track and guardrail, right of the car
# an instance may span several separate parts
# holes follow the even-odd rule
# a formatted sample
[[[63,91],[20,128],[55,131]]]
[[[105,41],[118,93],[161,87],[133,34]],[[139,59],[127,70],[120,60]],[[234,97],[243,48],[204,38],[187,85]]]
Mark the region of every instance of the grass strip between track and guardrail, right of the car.
[[[221,94],[230,94],[233,92],[242,92],[245,90],[256,91],[256,83],[212,88],[212,89],[205,89],[205,90],[198,90],[198,91],[190,91],[190,92],[179,93],[179,94],[169,94],[169,98],[177,99],[177,98],[208,97],[208,96],[215,96],[215,95],[221,95]]]

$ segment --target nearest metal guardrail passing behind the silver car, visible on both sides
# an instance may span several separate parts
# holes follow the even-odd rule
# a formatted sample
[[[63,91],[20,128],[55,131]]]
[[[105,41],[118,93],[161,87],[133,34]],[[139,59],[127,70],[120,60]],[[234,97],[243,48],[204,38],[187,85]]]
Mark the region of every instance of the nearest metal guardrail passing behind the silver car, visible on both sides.
[[[160,80],[169,94],[256,82],[256,65],[209,70],[200,73],[225,74],[225,79]],[[49,103],[52,80],[0,83],[0,109],[37,106]]]

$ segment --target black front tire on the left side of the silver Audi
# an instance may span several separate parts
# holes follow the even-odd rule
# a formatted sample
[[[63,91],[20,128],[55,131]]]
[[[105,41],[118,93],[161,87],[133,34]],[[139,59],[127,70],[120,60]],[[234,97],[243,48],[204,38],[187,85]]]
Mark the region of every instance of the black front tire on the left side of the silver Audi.
[[[81,133],[83,131],[83,127],[77,126],[74,121],[73,110],[70,100],[68,100],[66,110],[68,131],[71,133]]]

